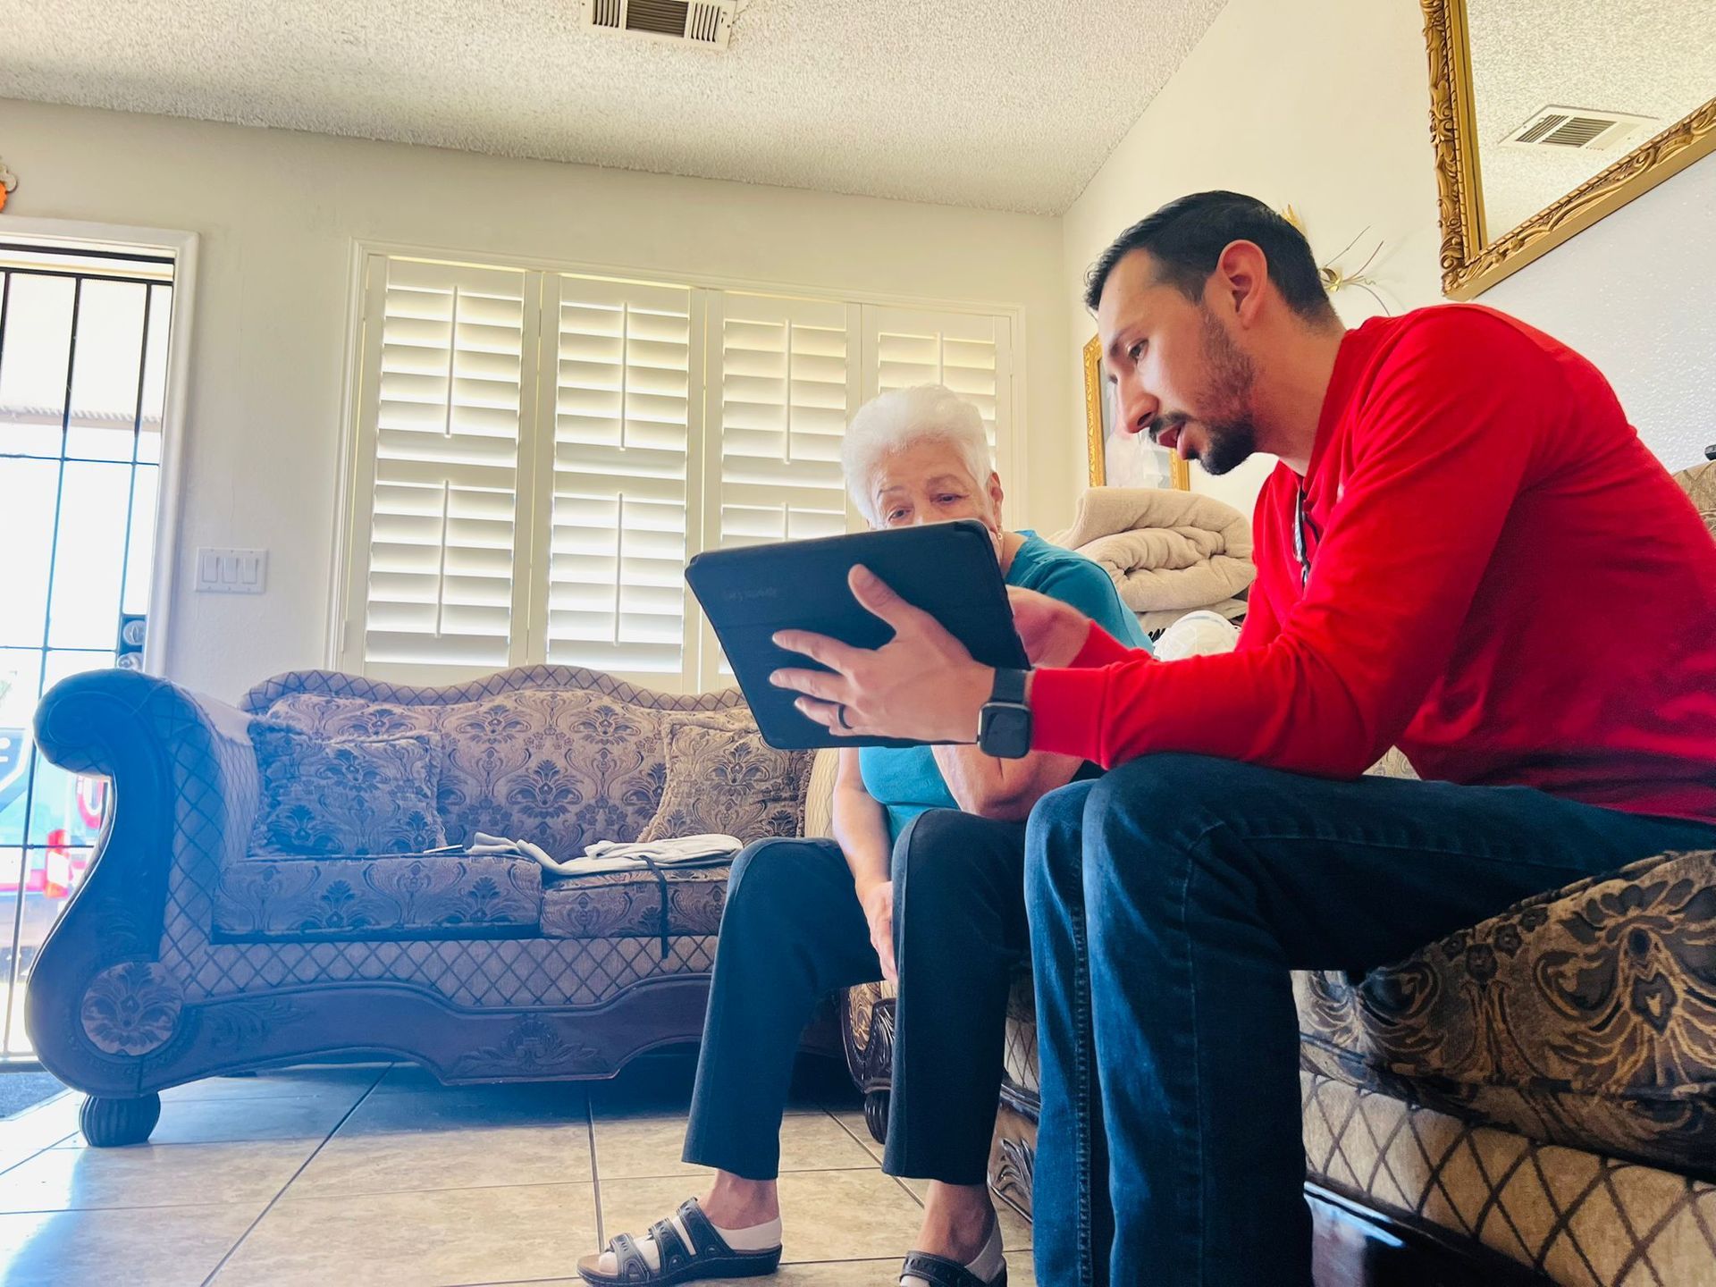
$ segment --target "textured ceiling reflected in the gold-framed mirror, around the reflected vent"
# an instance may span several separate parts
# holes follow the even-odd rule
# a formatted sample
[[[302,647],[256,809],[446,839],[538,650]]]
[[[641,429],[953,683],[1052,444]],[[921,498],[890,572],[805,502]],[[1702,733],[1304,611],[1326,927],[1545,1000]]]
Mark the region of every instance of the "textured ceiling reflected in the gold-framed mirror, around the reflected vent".
[[[1467,0],[1484,220],[1498,237],[1716,98],[1716,0]],[[1539,108],[1656,117],[1616,151],[1508,148]]]

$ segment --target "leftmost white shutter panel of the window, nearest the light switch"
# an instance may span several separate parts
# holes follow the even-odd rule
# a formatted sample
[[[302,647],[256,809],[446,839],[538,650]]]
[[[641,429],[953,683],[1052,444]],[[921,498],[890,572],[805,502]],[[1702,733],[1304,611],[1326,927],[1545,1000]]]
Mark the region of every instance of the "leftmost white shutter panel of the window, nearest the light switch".
[[[366,302],[345,661],[420,681],[513,664],[534,275],[371,256]]]

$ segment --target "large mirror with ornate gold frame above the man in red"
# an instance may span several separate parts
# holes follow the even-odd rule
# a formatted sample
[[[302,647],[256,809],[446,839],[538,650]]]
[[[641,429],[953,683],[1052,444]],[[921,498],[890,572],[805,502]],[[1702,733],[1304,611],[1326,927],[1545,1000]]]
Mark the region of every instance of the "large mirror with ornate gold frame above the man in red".
[[[1711,0],[1423,5],[1450,299],[1716,149]]]

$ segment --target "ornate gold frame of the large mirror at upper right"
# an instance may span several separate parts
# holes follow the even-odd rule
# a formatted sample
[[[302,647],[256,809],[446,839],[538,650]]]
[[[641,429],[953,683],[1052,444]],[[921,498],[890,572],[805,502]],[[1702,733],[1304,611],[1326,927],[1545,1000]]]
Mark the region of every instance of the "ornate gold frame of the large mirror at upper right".
[[[1491,240],[1472,115],[1472,60],[1465,0],[1423,0],[1429,46],[1429,120],[1436,141],[1441,216],[1441,293],[1472,299],[1508,273],[1584,232],[1665,178],[1716,151],[1716,98],[1634,148],[1553,206]]]

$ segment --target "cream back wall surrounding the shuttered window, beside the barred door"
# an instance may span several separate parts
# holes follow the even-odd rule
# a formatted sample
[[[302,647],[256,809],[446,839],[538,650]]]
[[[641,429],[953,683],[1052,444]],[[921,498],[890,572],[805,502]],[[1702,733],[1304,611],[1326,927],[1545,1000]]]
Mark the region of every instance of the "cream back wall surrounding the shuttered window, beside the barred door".
[[[15,101],[0,139],[7,216],[202,235],[166,657],[192,688],[232,698],[326,661],[359,239],[1024,305],[1030,510],[1009,518],[1071,518],[1057,220]],[[268,592],[192,594],[197,546],[268,549]]]

